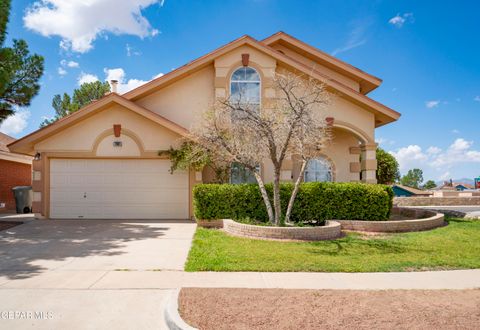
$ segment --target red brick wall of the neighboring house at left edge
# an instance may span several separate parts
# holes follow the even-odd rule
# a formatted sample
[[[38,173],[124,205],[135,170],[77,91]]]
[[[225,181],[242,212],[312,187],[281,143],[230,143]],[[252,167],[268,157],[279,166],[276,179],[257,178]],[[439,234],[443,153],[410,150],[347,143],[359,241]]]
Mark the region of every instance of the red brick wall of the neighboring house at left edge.
[[[0,160],[0,203],[5,203],[5,210],[15,210],[12,188],[31,184],[31,165]]]

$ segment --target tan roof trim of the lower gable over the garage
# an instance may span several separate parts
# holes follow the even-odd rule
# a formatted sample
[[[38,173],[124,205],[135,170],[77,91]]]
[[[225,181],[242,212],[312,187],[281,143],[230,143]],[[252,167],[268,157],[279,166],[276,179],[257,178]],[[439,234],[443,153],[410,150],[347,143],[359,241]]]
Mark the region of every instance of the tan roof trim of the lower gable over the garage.
[[[133,103],[123,96],[118,95],[117,93],[109,93],[108,95],[102,97],[101,99],[94,101],[85,107],[81,108],[80,110],[63,117],[53,124],[45,126],[33,133],[30,133],[23,138],[11,142],[8,144],[8,148],[10,150],[16,151],[18,153],[24,154],[32,154],[33,153],[33,144],[46,139],[59,131],[65,129],[66,127],[70,127],[73,124],[80,122],[81,120],[88,118],[103,109],[111,106],[112,104],[121,105],[147,119],[150,119],[163,127],[179,134],[185,136],[188,133],[188,130],[159,114],[150,111],[136,103]]]

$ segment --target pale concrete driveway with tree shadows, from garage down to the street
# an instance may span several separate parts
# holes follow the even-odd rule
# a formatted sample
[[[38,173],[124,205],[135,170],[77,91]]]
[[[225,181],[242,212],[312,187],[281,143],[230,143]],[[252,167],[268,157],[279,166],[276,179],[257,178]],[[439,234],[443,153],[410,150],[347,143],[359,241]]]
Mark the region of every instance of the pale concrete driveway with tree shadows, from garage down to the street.
[[[190,221],[33,220],[0,231],[0,328],[164,328],[169,290],[96,285],[110,286],[115,274],[183,270],[195,228]]]

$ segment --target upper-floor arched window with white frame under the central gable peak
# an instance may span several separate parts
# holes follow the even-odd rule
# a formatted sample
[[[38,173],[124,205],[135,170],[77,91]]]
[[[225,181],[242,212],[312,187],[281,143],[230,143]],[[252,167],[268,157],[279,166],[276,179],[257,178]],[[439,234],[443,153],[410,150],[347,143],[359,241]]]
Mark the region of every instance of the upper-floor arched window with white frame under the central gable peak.
[[[260,105],[260,75],[257,70],[244,66],[233,72],[230,79],[230,99],[233,102]]]

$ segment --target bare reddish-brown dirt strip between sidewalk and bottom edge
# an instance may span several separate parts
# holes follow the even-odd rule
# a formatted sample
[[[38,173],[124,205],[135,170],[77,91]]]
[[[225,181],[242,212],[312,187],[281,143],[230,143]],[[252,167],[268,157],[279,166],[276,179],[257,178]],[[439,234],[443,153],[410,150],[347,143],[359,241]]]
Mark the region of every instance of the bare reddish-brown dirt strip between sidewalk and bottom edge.
[[[179,310],[199,329],[478,329],[480,290],[185,288]]]

